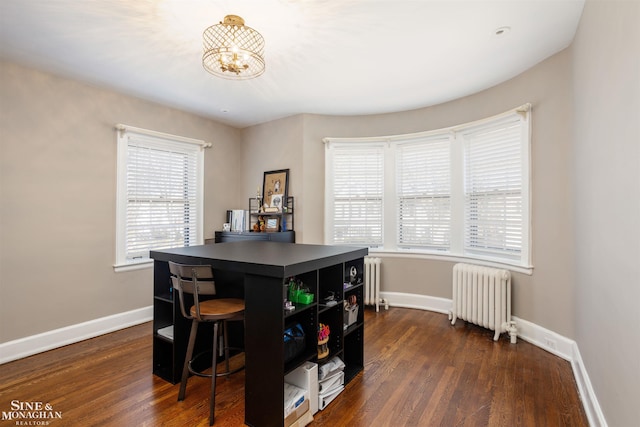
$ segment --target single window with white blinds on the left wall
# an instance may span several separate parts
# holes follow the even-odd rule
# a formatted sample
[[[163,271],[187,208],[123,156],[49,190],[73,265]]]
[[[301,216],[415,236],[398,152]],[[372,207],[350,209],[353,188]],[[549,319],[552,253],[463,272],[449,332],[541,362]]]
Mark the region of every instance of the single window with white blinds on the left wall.
[[[130,127],[118,134],[116,266],[202,244],[204,143]]]

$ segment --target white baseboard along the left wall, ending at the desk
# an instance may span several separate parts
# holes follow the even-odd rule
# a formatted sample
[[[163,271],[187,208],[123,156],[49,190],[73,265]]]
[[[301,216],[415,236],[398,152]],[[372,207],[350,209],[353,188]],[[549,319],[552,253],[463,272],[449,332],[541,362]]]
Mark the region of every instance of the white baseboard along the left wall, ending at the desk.
[[[8,341],[0,344],[0,364],[128,328],[152,319],[153,306],[148,306]]]

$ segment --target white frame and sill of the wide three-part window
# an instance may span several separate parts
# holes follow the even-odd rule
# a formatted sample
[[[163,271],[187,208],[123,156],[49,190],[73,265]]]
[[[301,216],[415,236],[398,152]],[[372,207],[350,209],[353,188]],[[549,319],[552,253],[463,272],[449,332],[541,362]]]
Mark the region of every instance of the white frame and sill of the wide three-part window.
[[[473,251],[465,244],[465,144],[472,132],[500,123],[517,122],[520,126],[520,172],[521,172],[521,247],[519,256],[502,256],[491,251]],[[397,151],[403,144],[428,144],[434,140],[450,140],[450,206],[451,227],[449,248],[435,245],[420,247],[415,244],[400,243],[400,225],[398,200]],[[333,138],[323,139],[325,143],[325,244],[342,244],[333,240],[333,194],[332,194],[332,159],[330,151],[349,146],[366,147],[367,145],[385,146],[384,164],[384,201],[382,226],[384,229],[383,245],[372,245],[370,251],[385,256],[427,257],[451,261],[474,262],[478,264],[508,267],[514,271],[531,274],[531,104],[506,111],[505,113],[444,129],[418,132],[405,135],[393,135],[370,138]],[[468,234],[467,234],[468,236]]]

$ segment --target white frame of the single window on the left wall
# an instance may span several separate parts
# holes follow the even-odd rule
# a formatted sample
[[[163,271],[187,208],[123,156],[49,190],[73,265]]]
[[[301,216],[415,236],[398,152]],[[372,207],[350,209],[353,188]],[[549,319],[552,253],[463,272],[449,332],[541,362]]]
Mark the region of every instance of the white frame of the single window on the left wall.
[[[132,257],[127,248],[127,212],[129,206],[129,191],[127,173],[130,166],[130,145],[142,146],[171,153],[182,153],[194,156],[193,169],[190,172],[195,189],[192,188],[195,196],[195,208],[190,210],[189,215],[195,215],[195,233],[191,233],[195,242],[192,245],[202,244],[203,233],[203,211],[204,211],[204,148],[211,147],[210,143],[202,140],[156,132],[148,129],[141,129],[133,126],[118,124],[117,130],[117,189],[116,189],[116,260],[114,269],[116,272],[128,271],[139,268],[149,268],[153,265],[153,260],[149,258],[149,250],[168,249],[163,247],[148,246],[148,250],[143,255],[136,253]],[[192,184],[193,185],[193,184]],[[182,246],[180,244],[170,244],[170,247]]]

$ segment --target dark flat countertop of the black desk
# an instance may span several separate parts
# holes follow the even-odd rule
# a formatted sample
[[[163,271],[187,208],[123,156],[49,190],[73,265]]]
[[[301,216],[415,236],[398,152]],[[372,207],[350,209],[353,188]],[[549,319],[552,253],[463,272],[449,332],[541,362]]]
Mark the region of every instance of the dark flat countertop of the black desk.
[[[156,261],[207,264],[216,269],[270,277],[289,277],[362,258],[367,248],[241,241],[151,251]]]

